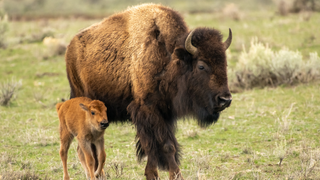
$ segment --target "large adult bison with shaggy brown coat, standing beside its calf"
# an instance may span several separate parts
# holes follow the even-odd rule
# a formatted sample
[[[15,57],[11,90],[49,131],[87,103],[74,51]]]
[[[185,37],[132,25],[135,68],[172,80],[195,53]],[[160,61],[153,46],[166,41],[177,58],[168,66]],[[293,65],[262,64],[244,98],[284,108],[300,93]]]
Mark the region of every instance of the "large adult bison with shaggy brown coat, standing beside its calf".
[[[168,7],[131,7],[72,39],[66,52],[70,98],[101,100],[110,122],[133,122],[138,160],[148,157],[146,179],[157,179],[157,168],[183,179],[176,121],[194,116],[207,126],[230,106],[225,51],[231,39],[231,30],[225,42],[215,29],[189,32]]]

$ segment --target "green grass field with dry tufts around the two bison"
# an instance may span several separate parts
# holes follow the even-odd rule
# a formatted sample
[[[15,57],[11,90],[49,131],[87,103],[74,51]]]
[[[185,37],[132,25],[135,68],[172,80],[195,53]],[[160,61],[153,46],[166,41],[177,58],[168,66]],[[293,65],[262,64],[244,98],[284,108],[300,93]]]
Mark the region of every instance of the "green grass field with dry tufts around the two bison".
[[[301,14],[279,17],[273,12],[245,12],[240,21],[218,13],[183,14],[191,27],[233,30],[229,68],[257,37],[279,50],[286,46],[320,53],[320,14],[307,21]],[[45,36],[67,44],[82,28],[100,19],[47,19],[9,22],[6,49],[0,49],[0,83],[14,83],[8,106],[0,106],[0,179],[61,179],[58,117],[55,104],[68,99],[64,56],[42,43]],[[320,62],[319,62],[320,63]],[[1,86],[2,87],[2,86]],[[3,89],[3,87],[2,87]],[[206,129],[193,120],[178,122],[185,179],[320,179],[320,84],[266,87],[233,94],[230,108]],[[135,130],[130,123],[112,124],[105,133],[108,179],[144,179],[146,161],[135,157]],[[280,164],[280,161],[281,164]],[[69,150],[69,172],[85,179]],[[166,172],[160,172],[168,179]]]

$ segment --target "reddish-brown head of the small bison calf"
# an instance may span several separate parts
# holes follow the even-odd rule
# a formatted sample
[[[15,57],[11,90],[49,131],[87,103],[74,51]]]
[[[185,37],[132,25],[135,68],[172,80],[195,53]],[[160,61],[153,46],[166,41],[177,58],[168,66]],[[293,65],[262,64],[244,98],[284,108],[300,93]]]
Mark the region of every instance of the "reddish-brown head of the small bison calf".
[[[89,105],[80,103],[82,110],[86,112],[86,118],[97,130],[104,130],[109,126],[107,107],[99,100],[93,100]]]

